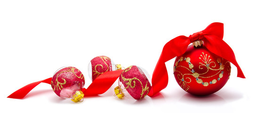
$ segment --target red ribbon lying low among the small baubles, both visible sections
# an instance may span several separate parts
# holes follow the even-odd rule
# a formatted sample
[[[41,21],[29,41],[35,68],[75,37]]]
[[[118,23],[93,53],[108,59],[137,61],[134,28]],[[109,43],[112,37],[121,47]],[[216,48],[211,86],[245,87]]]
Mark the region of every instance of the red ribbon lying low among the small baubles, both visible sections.
[[[96,96],[105,93],[107,89],[109,89],[113,85],[113,83],[122,72],[123,70],[117,70],[101,74],[91,83],[91,85],[87,89],[82,89],[84,96]],[[8,98],[24,98],[33,88],[35,88],[41,82],[51,84],[51,78],[28,84],[9,95]]]

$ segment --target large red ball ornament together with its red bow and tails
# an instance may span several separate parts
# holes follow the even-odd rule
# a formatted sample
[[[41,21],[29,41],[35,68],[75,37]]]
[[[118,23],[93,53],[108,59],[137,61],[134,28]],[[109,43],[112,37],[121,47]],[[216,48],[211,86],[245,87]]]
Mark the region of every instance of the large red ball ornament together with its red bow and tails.
[[[237,67],[237,77],[245,78],[233,50],[223,41],[223,23],[212,23],[189,37],[181,35],[168,41],[153,72],[149,96],[166,88],[165,62],[174,57],[176,81],[182,89],[194,95],[209,95],[221,89],[229,79],[230,63]]]

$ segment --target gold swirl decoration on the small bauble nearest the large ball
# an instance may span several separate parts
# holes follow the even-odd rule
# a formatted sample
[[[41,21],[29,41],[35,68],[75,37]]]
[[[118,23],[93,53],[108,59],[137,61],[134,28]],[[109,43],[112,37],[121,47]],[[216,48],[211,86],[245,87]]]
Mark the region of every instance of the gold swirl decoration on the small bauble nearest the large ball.
[[[141,85],[141,88],[142,88],[142,91],[141,91],[141,93],[140,93],[140,99],[141,99],[142,96],[143,96],[143,94],[145,93],[145,91],[147,91],[147,94],[144,95],[144,97],[147,96],[148,93],[149,93],[149,87],[147,86],[147,85],[148,85],[148,81],[147,81],[147,83],[146,83],[146,85],[145,85],[145,88],[143,88],[142,82],[141,82],[139,79],[137,79],[136,77],[133,77],[132,79],[126,79],[126,78],[124,78],[123,73],[124,73],[124,72],[126,73],[126,72],[130,71],[131,69],[132,69],[132,66],[129,66],[129,67],[127,67],[127,68],[122,72],[122,74],[121,74],[122,79],[123,79],[124,81],[128,81],[127,83],[125,83],[125,84],[127,85],[127,87],[124,88],[124,89],[127,89],[127,88],[129,88],[129,87],[134,88],[135,85],[136,85],[136,84],[135,84],[135,83],[136,83],[135,80],[139,81],[139,82],[140,82],[140,85]],[[133,82],[133,86],[132,86],[132,82]]]

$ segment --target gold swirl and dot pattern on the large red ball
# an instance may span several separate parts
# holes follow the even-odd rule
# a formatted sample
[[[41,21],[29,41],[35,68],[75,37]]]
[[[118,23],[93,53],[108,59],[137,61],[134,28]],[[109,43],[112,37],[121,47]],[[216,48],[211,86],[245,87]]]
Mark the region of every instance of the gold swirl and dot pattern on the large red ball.
[[[202,84],[203,86],[207,87],[209,84],[215,84],[217,81],[219,81],[222,77],[223,77],[223,69],[225,67],[226,64],[228,64],[227,66],[227,71],[229,72],[228,75],[230,75],[230,71],[231,71],[231,66],[230,66],[230,62],[227,61],[223,64],[223,58],[218,58],[217,59],[217,63],[219,63],[220,67],[216,69],[216,64],[214,61],[212,61],[211,56],[208,56],[207,54],[204,54],[204,52],[202,52],[202,55],[200,55],[199,59],[201,59],[202,62],[199,62],[199,69],[204,69],[206,68],[207,71],[205,73],[197,73],[193,70],[194,65],[190,62],[190,57],[181,57],[176,63],[175,66],[173,68],[173,72],[177,72],[177,78],[180,80],[180,84],[182,89],[188,91],[190,89],[190,86],[188,85],[188,83],[191,82],[191,78],[190,77],[186,77],[184,78],[184,75],[192,75],[192,77],[194,77],[196,79],[196,81],[199,84]],[[179,65],[180,62],[182,61],[186,61],[189,65],[189,68]],[[189,70],[191,73],[181,73],[180,71],[177,71],[177,68],[185,68],[187,70]],[[191,70],[190,70],[191,69]],[[211,76],[207,76],[204,77],[202,75],[206,74],[209,72],[209,70],[213,70],[213,71],[217,71],[217,73],[211,75]],[[219,75],[218,79],[213,79],[212,81],[209,82],[204,82],[202,79],[200,78],[211,78],[214,77],[216,75]]]

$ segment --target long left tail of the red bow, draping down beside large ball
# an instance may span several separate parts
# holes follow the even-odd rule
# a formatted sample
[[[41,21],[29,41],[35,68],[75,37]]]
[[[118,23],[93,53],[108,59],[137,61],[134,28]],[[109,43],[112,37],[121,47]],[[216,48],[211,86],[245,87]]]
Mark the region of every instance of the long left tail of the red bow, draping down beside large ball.
[[[190,39],[186,36],[178,36],[165,44],[152,75],[152,88],[148,94],[150,97],[165,89],[168,84],[168,73],[165,62],[175,56],[184,54],[189,44]]]

